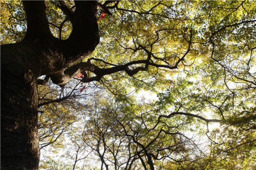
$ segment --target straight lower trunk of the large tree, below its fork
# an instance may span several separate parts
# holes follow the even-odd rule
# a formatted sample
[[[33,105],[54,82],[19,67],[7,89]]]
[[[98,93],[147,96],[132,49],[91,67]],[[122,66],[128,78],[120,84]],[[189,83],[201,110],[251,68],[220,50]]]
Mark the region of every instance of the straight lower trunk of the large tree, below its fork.
[[[12,47],[1,47],[1,169],[37,169],[35,77]]]

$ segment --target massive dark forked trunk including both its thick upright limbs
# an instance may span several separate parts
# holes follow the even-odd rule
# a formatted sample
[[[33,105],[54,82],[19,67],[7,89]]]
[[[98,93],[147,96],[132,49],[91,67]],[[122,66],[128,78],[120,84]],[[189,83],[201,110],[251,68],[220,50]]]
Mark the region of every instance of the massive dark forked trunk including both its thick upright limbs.
[[[96,2],[75,3],[73,31],[63,41],[50,33],[44,2],[23,4],[28,26],[24,40],[1,46],[1,169],[8,170],[38,169],[36,79],[58,75],[99,42]]]

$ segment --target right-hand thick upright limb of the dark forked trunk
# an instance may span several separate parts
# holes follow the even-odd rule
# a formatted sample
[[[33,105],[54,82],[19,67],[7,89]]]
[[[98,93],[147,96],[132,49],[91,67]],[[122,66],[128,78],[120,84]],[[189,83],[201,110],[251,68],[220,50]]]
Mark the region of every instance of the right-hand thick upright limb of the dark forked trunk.
[[[88,55],[99,43],[99,29],[96,19],[96,1],[75,1],[76,10],[72,17],[72,32],[63,41],[61,51],[68,63]],[[72,50],[70,50],[72,49]]]

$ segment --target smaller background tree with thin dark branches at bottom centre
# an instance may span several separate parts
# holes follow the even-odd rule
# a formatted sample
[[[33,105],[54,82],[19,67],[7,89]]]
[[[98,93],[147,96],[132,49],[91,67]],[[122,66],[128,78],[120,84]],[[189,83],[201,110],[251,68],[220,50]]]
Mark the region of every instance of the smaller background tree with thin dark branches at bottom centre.
[[[132,98],[107,108],[99,103],[83,136],[105,169],[162,169],[168,163],[187,169],[203,155],[180,122],[159,119],[154,104],[144,101],[135,107]]]

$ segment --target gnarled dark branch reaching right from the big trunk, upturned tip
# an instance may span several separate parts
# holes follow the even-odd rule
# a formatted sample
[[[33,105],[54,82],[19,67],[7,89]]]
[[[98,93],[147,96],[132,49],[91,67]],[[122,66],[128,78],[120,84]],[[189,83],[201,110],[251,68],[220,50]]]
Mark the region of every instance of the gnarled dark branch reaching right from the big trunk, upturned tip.
[[[157,33],[157,39],[151,45],[151,51],[147,50],[146,47],[144,47],[143,45],[141,45],[137,42],[139,44],[139,46],[138,46],[138,48],[134,49],[134,52],[136,52],[138,50],[143,50],[147,54],[147,58],[145,60],[135,60],[135,61],[131,61],[131,62],[128,62],[123,65],[116,65],[116,64],[106,62],[102,59],[90,58],[90,59],[88,59],[87,62],[81,62],[81,63],[75,64],[75,65],[67,68],[66,70],[61,70],[56,74],[48,75],[44,81],[38,80],[37,83],[41,84],[41,85],[46,85],[46,83],[50,77],[54,84],[57,84],[60,87],[64,87],[73,77],[78,75],[80,72],[82,72],[83,74],[86,74],[85,71],[93,72],[96,76],[91,77],[91,78],[84,76],[84,78],[81,80],[82,82],[100,81],[103,76],[114,74],[115,72],[119,72],[119,71],[125,71],[127,75],[134,76],[139,71],[147,71],[148,66],[153,66],[153,67],[157,67],[157,68],[176,69],[176,68],[178,68],[178,65],[180,64],[180,62],[183,61],[185,56],[189,53],[190,47],[191,47],[191,42],[192,42],[192,37],[193,37],[192,30],[190,30],[187,51],[185,52],[185,54],[182,57],[180,57],[178,59],[178,61],[175,62],[175,64],[169,64],[166,61],[165,61],[165,64],[157,64],[157,63],[153,62],[152,58],[159,59],[152,53],[153,44],[156,43],[159,38],[158,33]],[[100,68],[100,67],[92,64],[91,63],[92,60],[103,62],[104,64],[111,65],[112,67]],[[162,59],[162,61],[164,61],[164,60]],[[137,66],[136,67],[136,65],[141,65],[141,64],[144,64],[145,66]],[[133,67],[132,69],[130,68],[131,66]]]

